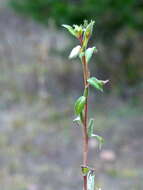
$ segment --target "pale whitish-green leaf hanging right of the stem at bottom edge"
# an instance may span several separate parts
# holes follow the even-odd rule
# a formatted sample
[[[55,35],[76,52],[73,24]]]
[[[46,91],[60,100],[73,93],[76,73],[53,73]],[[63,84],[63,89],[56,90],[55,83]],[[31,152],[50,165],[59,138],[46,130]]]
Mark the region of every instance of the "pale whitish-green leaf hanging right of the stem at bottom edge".
[[[87,175],[87,190],[95,190],[95,173],[89,171]]]

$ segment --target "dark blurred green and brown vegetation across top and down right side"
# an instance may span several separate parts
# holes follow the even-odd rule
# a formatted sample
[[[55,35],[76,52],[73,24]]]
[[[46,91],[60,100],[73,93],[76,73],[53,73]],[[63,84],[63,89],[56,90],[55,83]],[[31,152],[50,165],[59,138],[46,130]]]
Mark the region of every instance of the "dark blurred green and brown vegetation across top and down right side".
[[[10,0],[10,4],[44,24],[51,19],[57,26],[95,19],[96,42],[102,51],[96,58],[97,73],[110,78],[122,97],[142,94],[142,0]]]

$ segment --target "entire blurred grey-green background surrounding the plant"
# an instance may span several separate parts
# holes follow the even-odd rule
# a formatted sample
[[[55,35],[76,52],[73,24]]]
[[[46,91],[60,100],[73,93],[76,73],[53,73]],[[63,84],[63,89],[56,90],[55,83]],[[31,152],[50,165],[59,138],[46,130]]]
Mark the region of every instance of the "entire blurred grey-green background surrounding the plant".
[[[61,24],[95,20],[90,115],[105,144],[90,141],[103,190],[143,189],[143,0],[0,0],[0,189],[80,190],[83,91],[77,41]]]

